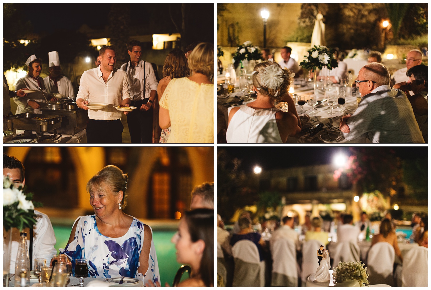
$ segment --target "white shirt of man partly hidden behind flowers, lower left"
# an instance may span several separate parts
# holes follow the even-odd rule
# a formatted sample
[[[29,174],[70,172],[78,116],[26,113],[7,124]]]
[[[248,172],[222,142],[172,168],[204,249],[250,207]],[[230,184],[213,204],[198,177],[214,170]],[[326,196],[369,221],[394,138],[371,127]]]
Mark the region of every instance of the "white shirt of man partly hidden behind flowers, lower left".
[[[50,218],[42,212],[34,210],[36,214],[36,225],[33,226],[33,257],[31,257],[34,265],[34,259],[46,259],[47,265],[51,262],[52,257],[57,253],[54,248],[57,240],[54,235],[53,226]],[[19,233],[18,230],[16,237],[12,237],[12,246],[10,252],[10,273],[15,273],[16,254],[18,253],[19,245]],[[27,247],[30,246],[30,240],[28,240],[28,229],[27,232]],[[30,254],[30,253],[29,253]]]

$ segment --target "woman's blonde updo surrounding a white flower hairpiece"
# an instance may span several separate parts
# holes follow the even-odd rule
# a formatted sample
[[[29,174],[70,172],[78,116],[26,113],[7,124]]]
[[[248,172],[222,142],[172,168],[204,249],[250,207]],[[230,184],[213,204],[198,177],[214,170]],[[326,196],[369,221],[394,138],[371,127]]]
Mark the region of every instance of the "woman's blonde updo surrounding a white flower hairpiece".
[[[277,65],[281,69],[281,66],[277,62],[273,62],[273,61],[269,61],[269,60],[267,60],[265,62],[260,62],[257,65],[255,65],[254,71],[256,71],[256,72],[253,74],[253,86],[255,86],[256,89],[258,89],[258,90],[260,88],[259,93],[261,95],[269,96],[274,100],[281,101],[284,94],[287,94],[287,92],[289,91],[289,86],[290,86],[289,75],[292,72],[288,69],[282,69],[284,73],[281,76],[281,78],[283,78],[283,82],[281,83],[281,85],[275,89],[265,87],[261,84],[260,77],[262,75],[262,72],[264,72],[265,69],[271,65]],[[274,96],[275,93],[277,93],[276,97]]]

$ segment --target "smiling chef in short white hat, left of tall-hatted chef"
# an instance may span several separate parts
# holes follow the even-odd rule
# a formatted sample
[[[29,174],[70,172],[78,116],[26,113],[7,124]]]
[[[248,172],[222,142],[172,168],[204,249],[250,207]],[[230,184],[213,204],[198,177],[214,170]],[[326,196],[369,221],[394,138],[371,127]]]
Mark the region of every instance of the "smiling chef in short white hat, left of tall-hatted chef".
[[[40,109],[47,106],[47,95],[44,79],[40,77],[42,72],[42,60],[38,59],[34,54],[30,56],[25,64],[28,66],[28,74],[20,78],[15,85],[16,90],[28,88],[28,90],[37,90],[29,93],[26,97],[14,97],[13,101],[18,105],[16,114],[30,112],[41,113]],[[42,89],[39,90],[39,87]],[[44,97],[44,94],[46,98]]]

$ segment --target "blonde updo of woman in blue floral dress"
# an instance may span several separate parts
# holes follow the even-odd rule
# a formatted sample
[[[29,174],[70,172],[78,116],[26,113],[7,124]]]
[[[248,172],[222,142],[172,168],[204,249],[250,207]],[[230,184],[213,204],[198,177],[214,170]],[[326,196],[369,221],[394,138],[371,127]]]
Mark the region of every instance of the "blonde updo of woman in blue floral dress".
[[[87,182],[87,192],[103,191],[105,187],[108,187],[117,196],[119,191],[122,190],[121,209],[124,209],[127,206],[127,179],[128,175],[123,174],[120,168],[115,165],[108,165],[103,167]]]

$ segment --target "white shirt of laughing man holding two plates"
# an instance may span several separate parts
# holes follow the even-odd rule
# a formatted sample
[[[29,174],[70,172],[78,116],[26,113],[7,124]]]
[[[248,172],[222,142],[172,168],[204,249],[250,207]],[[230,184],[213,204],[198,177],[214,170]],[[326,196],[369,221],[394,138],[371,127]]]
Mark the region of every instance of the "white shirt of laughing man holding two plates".
[[[100,110],[88,109],[88,118],[94,120],[116,120],[121,118],[121,111],[113,106],[121,105],[122,100],[129,98],[127,75],[120,69],[114,69],[103,81],[100,65],[85,71],[81,76],[81,84],[76,99],[88,99],[88,103],[102,102],[109,105]]]

